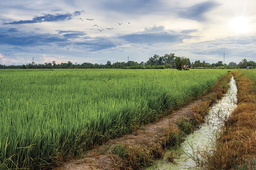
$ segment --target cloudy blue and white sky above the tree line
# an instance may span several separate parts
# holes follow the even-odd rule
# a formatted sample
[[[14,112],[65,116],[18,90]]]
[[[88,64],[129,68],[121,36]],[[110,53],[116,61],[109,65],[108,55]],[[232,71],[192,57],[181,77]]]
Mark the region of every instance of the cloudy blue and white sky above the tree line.
[[[0,64],[140,63],[170,53],[211,64],[256,61],[255,7],[255,0],[0,1]]]

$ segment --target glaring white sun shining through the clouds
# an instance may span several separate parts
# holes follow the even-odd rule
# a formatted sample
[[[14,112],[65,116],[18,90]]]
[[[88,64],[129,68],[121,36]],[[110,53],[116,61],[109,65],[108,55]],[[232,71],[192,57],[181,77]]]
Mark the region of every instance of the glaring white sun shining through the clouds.
[[[249,22],[245,17],[237,17],[232,21],[232,29],[236,33],[245,33],[249,31]]]

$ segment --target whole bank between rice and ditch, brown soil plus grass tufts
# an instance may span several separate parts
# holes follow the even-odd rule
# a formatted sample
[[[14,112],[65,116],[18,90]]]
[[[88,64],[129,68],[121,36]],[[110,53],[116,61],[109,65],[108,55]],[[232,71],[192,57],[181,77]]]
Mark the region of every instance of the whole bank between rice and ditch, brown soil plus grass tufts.
[[[230,78],[231,74],[228,74],[213,87],[211,92],[191,101],[185,107],[170,112],[170,115],[157,122],[135,127],[132,134],[109,140],[98,147],[95,146],[95,149],[86,152],[83,159],[70,160],[54,170],[136,169],[143,165],[150,165],[152,160],[163,156],[167,145],[172,144],[172,132],[180,133],[180,129],[175,129],[177,120],[184,118],[195,120],[197,123],[203,121],[212,103],[226,92]],[[124,159],[116,152],[119,152],[119,155],[120,152],[125,152]]]

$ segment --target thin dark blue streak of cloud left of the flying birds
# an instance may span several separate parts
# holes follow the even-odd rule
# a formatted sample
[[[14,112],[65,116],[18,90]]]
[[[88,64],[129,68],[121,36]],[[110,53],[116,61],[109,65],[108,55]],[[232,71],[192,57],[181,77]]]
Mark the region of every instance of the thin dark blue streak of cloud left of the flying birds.
[[[32,20],[20,20],[20,21],[13,21],[10,23],[4,23],[4,25],[7,24],[31,24],[31,23],[40,23],[40,22],[56,22],[56,21],[64,21],[66,19],[71,19],[74,16],[80,15],[81,11],[75,11],[73,14],[67,13],[67,14],[44,14],[44,16],[36,16]]]

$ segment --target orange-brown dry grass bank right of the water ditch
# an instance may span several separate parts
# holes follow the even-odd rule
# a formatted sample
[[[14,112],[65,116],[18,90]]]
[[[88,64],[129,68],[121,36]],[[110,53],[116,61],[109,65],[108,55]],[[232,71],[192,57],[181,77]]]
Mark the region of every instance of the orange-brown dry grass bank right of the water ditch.
[[[256,155],[255,83],[232,71],[238,88],[238,105],[225,123],[212,153],[201,152],[207,169],[251,169]],[[255,162],[254,162],[255,163]]]

